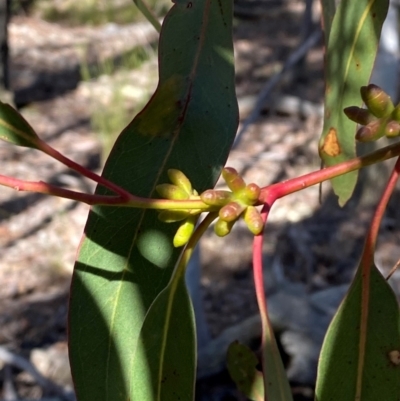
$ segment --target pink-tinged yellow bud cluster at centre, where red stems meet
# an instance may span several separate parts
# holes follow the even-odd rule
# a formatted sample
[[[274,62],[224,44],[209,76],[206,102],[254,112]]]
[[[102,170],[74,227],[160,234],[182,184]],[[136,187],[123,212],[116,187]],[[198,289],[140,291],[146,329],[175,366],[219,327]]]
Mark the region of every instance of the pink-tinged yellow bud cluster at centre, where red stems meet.
[[[228,235],[235,222],[243,216],[249,230],[254,235],[260,234],[264,223],[254,206],[260,196],[260,187],[256,184],[246,185],[239,173],[231,167],[222,170],[222,177],[230,191],[209,189],[200,195],[205,204],[220,207],[214,226],[215,233],[220,237]]]

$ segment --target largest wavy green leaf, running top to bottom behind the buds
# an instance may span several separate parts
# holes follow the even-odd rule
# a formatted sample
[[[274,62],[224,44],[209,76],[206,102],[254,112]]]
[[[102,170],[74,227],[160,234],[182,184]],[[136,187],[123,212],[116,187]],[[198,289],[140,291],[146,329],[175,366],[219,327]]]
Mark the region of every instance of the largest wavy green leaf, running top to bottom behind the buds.
[[[153,197],[155,186],[168,182],[167,169],[176,168],[198,191],[213,187],[238,121],[231,31],[231,1],[175,2],[161,30],[157,91],[118,138],[106,178]],[[70,358],[79,401],[143,400],[135,392],[132,369],[140,363],[151,371],[160,361],[148,359],[151,352],[135,352],[149,308],[158,307],[160,301],[154,301],[179,258],[180,250],[172,247],[176,229],[151,210],[92,209],[71,287]],[[181,291],[176,296],[184,297]],[[168,318],[182,315],[185,327],[193,325],[190,304],[174,305]],[[185,332],[189,338],[179,352],[193,367],[193,330]],[[190,399],[187,394],[182,401]]]

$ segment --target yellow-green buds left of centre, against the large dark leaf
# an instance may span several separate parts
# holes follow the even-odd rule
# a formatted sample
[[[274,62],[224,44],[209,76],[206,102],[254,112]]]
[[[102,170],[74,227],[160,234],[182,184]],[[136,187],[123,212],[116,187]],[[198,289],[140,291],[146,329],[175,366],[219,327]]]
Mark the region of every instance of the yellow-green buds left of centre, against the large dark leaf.
[[[180,170],[168,170],[168,178],[172,184],[160,184],[156,186],[158,194],[165,199],[190,200],[200,199],[199,194],[192,188],[192,184]],[[175,247],[186,245],[196,226],[200,209],[168,209],[158,214],[159,220],[165,223],[181,222],[173,239]]]

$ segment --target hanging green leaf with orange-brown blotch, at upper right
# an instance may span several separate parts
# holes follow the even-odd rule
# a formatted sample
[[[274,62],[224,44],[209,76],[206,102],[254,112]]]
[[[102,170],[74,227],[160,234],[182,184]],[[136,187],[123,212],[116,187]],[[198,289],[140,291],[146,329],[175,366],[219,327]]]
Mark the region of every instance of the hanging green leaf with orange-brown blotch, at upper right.
[[[319,152],[332,166],[355,156],[356,124],[343,113],[361,105],[360,87],[368,84],[389,0],[342,0],[329,32],[325,61],[325,117]],[[325,15],[325,20],[329,21]],[[328,23],[329,25],[329,23]],[[357,172],[332,180],[344,205],[357,182]]]

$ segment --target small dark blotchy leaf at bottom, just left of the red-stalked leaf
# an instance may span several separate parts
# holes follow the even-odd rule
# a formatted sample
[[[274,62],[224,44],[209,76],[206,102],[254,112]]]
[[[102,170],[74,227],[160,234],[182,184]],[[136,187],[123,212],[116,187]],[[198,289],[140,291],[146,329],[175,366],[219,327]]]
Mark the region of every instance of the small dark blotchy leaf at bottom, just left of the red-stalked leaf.
[[[263,375],[256,369],[258,360],[250,348],[233,342],[229,345],[226,363],[240,392],[252,401],[264,401]]]

